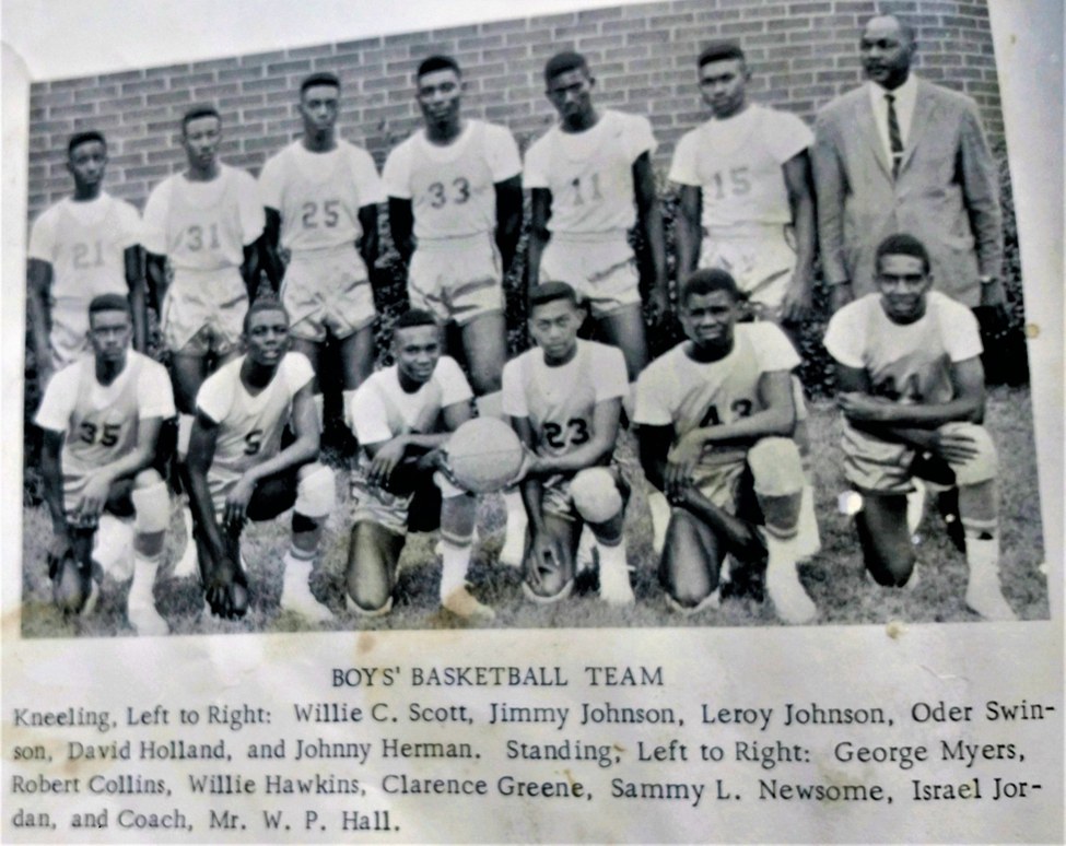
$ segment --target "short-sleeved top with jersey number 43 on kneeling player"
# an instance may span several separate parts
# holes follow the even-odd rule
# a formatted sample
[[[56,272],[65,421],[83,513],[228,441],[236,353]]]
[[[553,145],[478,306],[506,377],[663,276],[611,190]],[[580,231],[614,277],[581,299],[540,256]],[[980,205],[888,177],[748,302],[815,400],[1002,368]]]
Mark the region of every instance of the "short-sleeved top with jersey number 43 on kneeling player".
[[[701,363],[689,357],[683,341],[652,362],[641,374],[636,387],[637,424],[672,424],[676,438],[694,428],[735,423],[764,411],[759,397],[759,380],[764,373],[792,371],[799,356],[774,324],[738,324],[734,327],[733,350],[716,362]],[[743,460],[747,446],[708,445],[701,466]]]

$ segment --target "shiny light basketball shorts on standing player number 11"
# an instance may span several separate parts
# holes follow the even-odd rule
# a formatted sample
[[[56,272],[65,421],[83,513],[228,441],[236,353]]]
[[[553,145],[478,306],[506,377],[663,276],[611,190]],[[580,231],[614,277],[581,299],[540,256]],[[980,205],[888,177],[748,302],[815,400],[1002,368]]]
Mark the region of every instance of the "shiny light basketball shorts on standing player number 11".
[[[641,304],[641,275],[624,233],[609,238],[553,234],[540,259],[540,281],[567,282],[595,318]]]

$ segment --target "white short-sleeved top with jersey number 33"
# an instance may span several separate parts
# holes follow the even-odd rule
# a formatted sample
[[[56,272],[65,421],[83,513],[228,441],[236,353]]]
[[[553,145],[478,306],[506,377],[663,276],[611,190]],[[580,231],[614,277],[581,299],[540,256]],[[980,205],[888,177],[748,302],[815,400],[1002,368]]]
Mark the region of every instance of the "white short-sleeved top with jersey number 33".
[[[384,181],[390,197],[411,200],[418,238],[492,232],[495,184],[522,173],[518,148],[503,127],[469,120],[450,144],[420,130],[389,153]]]

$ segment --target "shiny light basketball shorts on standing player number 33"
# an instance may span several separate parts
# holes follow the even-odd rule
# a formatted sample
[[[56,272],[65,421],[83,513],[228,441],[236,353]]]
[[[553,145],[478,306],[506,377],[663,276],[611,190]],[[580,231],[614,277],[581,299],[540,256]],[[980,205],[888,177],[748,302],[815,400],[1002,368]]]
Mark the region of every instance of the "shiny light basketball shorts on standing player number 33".
[[[407,291],[412,308],[432,312],[442,324],[465,326],[503,310],[503,261],[488,233],[423,238],[411,256]]]

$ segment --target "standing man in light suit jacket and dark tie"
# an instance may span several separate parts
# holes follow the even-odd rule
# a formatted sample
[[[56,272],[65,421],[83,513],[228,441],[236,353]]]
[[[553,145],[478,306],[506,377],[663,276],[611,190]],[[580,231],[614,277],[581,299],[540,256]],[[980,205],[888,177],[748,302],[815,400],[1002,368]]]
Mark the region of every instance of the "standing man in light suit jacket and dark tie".
[[[874,252],[918,235],[934,285],[973,308],[1003,309],[996,163],[976,105],[911,73],[910,26],[874,17],[860,42],[869,82],[829,103],[815,125],[822,270],[833,310],[874,290]]]

